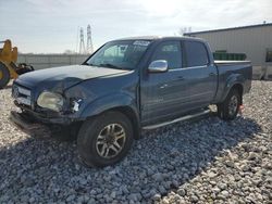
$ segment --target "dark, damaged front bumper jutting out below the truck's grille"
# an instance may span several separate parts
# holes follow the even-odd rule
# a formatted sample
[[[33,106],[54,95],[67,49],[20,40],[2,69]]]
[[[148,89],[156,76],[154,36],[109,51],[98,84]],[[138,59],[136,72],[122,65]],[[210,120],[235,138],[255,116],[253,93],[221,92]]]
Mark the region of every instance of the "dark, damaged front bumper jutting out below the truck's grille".
[[[11,111],[10,120],[22,131],[27,135],[39,137],[50,136],[51,131],[48,126],[39,123],[34,123],[27,118],[24,113]]]

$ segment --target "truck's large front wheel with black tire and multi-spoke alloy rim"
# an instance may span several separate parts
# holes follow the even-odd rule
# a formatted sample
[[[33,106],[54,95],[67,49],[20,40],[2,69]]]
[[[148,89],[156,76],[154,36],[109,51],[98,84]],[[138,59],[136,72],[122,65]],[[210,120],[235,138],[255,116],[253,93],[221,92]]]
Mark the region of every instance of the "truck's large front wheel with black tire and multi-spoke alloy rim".
[[[119,132],[115,130],[119,130]],[[127,154],[132,146],[133,138],[131,120],[120,112],[107,112],[86,120],[81,127],[77,136],[79,158],[89,167],[113,165]],[[116,141],[118,145],[121,146],[118,148],[119,151],[115,151],[118,150],[115,145]],[[111,148],[115,150],[113,151]],[[107,156],[103,155],[104,153],[107,153]]]

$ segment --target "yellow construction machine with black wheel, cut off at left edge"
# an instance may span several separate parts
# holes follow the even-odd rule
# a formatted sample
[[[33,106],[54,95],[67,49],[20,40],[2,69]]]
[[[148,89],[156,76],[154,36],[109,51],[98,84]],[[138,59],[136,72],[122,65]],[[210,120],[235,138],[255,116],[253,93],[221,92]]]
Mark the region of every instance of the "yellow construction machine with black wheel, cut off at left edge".
[[[34,71],[33,66],[25,63],[16,64],[17,48],[12,48],[11,40],[0,41],[3,43],[0,49],[0,89],[4,88],[10,79],[15,79],[18,75]]]

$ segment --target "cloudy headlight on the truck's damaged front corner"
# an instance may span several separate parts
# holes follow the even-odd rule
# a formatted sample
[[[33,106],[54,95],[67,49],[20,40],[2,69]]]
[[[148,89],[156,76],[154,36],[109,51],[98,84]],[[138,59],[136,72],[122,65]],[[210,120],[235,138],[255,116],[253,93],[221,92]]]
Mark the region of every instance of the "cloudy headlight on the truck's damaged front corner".
[[[44,91],[40,93],[37,103],[41,107],[59,112],[63,106],[63,97],[58,93]]]

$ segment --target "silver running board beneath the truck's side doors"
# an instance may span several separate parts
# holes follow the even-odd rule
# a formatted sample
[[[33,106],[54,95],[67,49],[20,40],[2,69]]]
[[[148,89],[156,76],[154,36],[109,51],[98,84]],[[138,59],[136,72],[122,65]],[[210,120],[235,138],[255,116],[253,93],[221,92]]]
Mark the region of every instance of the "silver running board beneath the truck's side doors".
[[[195,118],[195,117],[208,115],[209,113],[211,113],[210,110],[205,110],[202,112],[198,112],[198,113],[195,113],[195,114],[185,115],[183,117],[178,117],[178,118],[170,120],[170,122],[163,122],[161,124],[145,126],[145,127],[143,127],[143,129],[146,129],[146,130],[148,130],[148,129],[156,129],[156,128],[159,128],[159,127],[162,127],[162,126],[168,126],[168,125],[171,125],[171,124],[175,124],[177,122],[184,122],[184,120],[191,119],[191,118]]]

